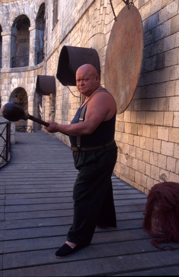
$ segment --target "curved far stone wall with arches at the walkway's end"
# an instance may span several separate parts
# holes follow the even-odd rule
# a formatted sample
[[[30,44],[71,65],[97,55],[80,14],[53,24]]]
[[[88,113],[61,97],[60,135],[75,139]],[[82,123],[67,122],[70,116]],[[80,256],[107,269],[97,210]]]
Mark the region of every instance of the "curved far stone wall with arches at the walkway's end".
[[[38,3],[37,3],[38,2]],[[2,27],[2,69],[0,69],[1,107],[10,101],[13,91],[23,88],[27,93],[28,111],[34,115],[34,99],[36,97],[35,86],[37,75],[43,74],[43,62],[35,64],[35,19],[40,4],[43,1],[2,1],[0,2],[0,25]],[[30,20],[30,51],[29,65],[26,67],[11,66],[12,41],[14,40],[13,23],[20,15],[26,15]],[[24,38],[25,40],[25,38]],[[27,52],[27,51],[26,51]],[[27,54],[27,53],[26,53]],[[37,98],[37,97],[36,97]],[[37,127],[36,123],[28,120],[25,125]],[[13,125],[13,124],[12,124]]]

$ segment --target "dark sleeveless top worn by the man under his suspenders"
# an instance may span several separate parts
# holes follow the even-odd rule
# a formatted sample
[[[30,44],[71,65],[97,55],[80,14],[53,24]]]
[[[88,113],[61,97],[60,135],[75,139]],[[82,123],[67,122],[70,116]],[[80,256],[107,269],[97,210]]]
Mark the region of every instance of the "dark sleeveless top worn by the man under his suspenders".
[[[103,91],[106,91],[105,89]],[[108,91],[106,91],[109,93]],[[98,92],[97,92],[98,93]],[[82,105],[82,104],[81,104]],[[78,123],[83,107],[79,107],[71,124]],[[86,113],[86,108],[85,108]],[[84,119],[85,119],[84,113]],[[84,121],[84,120],[83,120]],[[110,120],[102,121],[101,124],[90,135],[81,136],[80,147],[93,147],[98,145],[104,145],[114,139],[115,133],[116,112]],[[69,135],[70,143],[73,147],[77,146],[77,136]]]

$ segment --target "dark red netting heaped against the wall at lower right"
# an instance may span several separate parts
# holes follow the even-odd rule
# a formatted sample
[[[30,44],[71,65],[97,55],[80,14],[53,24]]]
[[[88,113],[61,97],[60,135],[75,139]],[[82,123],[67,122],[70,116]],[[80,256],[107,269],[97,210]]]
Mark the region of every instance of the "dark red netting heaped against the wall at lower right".
[[[163,250],[159,243],[179,242],[179,183],[155,184],[149,191],[145,207],[143,229],[152,239],[151,244]]]

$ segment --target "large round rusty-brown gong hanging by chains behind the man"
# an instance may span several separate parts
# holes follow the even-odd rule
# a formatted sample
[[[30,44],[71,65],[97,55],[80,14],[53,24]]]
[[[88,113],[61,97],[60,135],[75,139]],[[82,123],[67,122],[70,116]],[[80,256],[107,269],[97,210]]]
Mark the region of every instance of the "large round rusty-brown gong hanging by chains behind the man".
[[[143,26],[138,9],[127,5],[114,21],[106,50],[104,83],[117,104],[117,114],[130,104],[143,58]]]

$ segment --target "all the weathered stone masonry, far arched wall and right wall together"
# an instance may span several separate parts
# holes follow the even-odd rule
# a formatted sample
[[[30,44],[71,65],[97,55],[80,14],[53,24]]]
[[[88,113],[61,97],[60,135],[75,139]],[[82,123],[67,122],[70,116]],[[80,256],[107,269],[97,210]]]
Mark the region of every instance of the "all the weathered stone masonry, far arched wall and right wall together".
[[[158,182],[179,182],[178,2],[133,1],[143,22],[144,53],[134,97],[126,111],[117,115],[118,160],[114,174],[145,193]],[[36,19],[43,3],[44,61],[37,64]],[[122,0],[113,0],[112,4],[116,15],[125,6]],[[29,65],[12,68],[12,27],[15,28],[19,15],[27,16],[30,22]],[[50,118],[69,124],[81,97],[76,87],[63,86],[56,78],[60,51],[64,45],[96,49],[104,85],[106,48],[113,24],[114,15],[108,0],[0,0],[1,106],[14,99],[15,92],[23,88],[30,114],[40,113],[43,120]],[[35,92],[37,75],[55,76],[56,97],[50,94],[40,98]],[[39,128],[32,122],[28,125]],[[60,133],[55,136],[69,145],[67,136]]]

